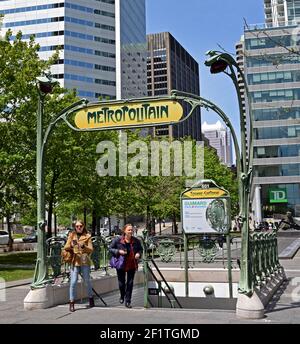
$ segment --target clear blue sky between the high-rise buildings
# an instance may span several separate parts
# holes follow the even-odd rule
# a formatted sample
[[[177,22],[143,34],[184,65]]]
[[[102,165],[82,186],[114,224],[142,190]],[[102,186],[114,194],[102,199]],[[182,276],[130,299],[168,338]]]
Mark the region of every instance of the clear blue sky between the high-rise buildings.
[[[211,75],[204,66],[208,50],[235,54],[235,44],[248,24],[264,22],[263,0],[146,0],[147,33],[170,32],[197,60],[200,66],[201,96],[219,105],[232,119],[239,135],[236,93],[225,74]],[[218,117],[202,110],[202,122],[213,123]]]

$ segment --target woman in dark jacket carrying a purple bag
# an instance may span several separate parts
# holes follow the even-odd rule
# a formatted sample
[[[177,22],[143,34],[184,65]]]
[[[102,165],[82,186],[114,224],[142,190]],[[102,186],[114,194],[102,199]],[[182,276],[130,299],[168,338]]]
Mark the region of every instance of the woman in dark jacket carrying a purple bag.
[[[141,258],[143,249],[140,241],[133,236],[133,228],[131,224],[127,224],[122,229],[122,235],[115,238],[110,247],[109,252],[115,256],[124,256],[124,266],[117,269],[120,303],[124,303],[127,308],[131,306],[131,296],[133,289],[133,281],[136,270],[138,269],[138,260]],[[125,282],[127,274],[127,281]]]

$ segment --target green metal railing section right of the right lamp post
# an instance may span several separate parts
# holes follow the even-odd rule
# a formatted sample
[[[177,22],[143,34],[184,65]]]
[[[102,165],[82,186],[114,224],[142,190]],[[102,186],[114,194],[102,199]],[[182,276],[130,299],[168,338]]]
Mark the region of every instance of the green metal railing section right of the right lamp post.
[[[262,287],[273,276],[282,272],[278,258],[277,233],[251,233],[250,257],[252,281],[256,287]]]

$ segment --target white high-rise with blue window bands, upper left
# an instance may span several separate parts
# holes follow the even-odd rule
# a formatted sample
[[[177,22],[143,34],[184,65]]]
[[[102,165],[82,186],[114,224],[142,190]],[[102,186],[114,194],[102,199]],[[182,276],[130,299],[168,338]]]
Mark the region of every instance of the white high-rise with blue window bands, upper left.
[[[76,88],[80,97],[122,97],[121,54],[125,45],[129,49],[127,43],[135,53],[143,44],[145,59],[145,0],[5,0],[0,2],[0,13],[3,31],[10,28],[13,36],[22,31],[24,39],[35,36],[42,59],[61,49],[51,73],[63,87]],[[146,62],[136,74],[145,83],[136,94],[140,96],[146,93]],[[127,91],[125,95],[136,90]]]

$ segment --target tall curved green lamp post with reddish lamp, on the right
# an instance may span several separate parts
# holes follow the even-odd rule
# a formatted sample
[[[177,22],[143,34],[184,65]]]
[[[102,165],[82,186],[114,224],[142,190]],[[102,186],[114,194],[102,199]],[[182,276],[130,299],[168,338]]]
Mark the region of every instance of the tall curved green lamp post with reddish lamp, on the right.
[[[225,73],[228,75],[234,83],[238,102],[239,102],[239,112],[240,112],[240,129],[241,129],[241,163],[238,164],[238,181],[239,181],[239,198],[240,198],[240,216],[239,221],[242,229],[242,252],[241,252],[241,276],[239,283],[239,293],[251,296],[253,292],[253,281],[251,276],[251,266],[250,266],[250,250],[249,250],[249,205],[250,205],[250,188],[252,184],[252,160],[253,160],[253,140],[252,140],[252,118],[251,118],[251,104],[249,101],[249,91],[247,87],[247,81],[245,79],[244,73],[240,69],[239,65],[235,59],[227,54],[218,51],[209,51],[207,55],[210,57],[205,61],[205,65],[210,67],[212,74]],[[243,109],[243,99],[241,90],[238,83],[238,78],[235,72],[240,74],[244,87],[246,90],[246,95],[248,99],[248,109],[249,109],[249,159],[247,162],[247,128],[246,128],[246,117]],[[227,72],[229,69],[230,72]]]

